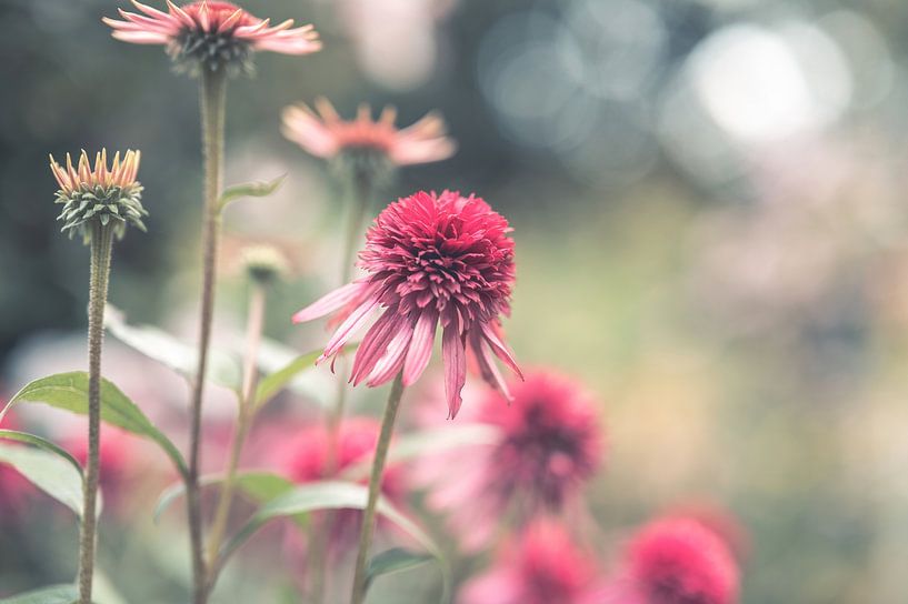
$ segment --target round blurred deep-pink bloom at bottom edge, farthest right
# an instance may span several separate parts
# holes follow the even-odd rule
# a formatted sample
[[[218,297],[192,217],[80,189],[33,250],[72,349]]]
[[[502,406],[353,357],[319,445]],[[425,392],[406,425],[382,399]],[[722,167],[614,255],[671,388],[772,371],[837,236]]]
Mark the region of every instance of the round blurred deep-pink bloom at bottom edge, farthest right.
[[[666,517],[643,526],[627,550],[628,587],[642,604],[734,604],[738,565],[701,522]]]

